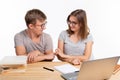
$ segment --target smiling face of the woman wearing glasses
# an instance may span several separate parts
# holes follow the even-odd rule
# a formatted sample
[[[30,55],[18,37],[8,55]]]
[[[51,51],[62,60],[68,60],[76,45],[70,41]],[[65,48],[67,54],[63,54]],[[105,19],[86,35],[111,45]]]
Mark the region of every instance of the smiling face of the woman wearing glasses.
[[[70,16],[68,25],[73,32],[79,32],[80,30],[80,25],[76,17]]]

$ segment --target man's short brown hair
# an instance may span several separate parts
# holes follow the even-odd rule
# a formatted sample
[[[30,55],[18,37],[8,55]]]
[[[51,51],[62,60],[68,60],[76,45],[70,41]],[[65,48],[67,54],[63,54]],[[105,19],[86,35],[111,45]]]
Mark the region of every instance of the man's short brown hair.
[[[44,21],[47,19],[46,15],[39,9],[29,10],[25,15],[26,25],[36,24],[36,20]]]

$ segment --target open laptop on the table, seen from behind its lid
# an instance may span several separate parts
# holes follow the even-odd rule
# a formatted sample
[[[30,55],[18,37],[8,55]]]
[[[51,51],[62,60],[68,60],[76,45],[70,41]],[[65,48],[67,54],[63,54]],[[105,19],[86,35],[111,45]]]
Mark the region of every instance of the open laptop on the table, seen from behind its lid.
[[[79,72],[62,74],[65,80],[108,80],[120,56],[84,61]]]

